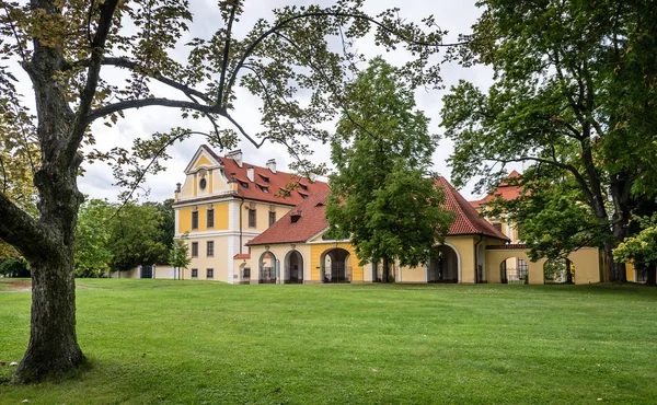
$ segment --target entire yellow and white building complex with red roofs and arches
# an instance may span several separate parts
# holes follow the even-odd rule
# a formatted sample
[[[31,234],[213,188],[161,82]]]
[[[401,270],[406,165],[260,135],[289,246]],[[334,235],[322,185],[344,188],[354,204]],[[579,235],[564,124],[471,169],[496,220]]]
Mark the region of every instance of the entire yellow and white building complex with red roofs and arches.
[[[328,186],[242,162],[240,151],[218,157],[198,149],[175,194],[176,236],[188,234],[192,264],[183,278],[231,284],[376,282],[381,266],[359,265],[348,240],[331,240],[324,208]],[[511,173],[510,177],[518,174]],[[289,185],[295,187],[290,189]],[[437,257],[415,267],[392,264],[396,282],[564,281],[530,262],[521,228],[504,218],[486,218],[492,198],[515,198],[519,187],[503,183],[491,196],[469,202],[443,177],[445,208],[456,213]],[[284,197],[285,195],[285,197]],[[480,212],[477,212],[477,209]],[[599,282],[597,248],[581,248],[566,261],[577,284]],[[548,275],[548,276],[546,276]],[[569,280],[569,278],[568,278]]]

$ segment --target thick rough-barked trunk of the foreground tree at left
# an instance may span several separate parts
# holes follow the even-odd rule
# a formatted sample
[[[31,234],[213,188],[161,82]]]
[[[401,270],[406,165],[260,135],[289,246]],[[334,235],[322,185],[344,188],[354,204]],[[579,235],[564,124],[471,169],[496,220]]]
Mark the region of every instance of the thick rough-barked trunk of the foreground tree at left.
[[[42,164],[34,175],[38,224],[34,224],[32,235],[14,241],[32,267],[30,344],[15,382],[38,381],[74,369],[83,360],[76,335],[73,259],[76,223],[83,200],[77,184],[82,161],[77,148],[83,127],[76,128],[76,114],[54,79],[64,62],[58,49],[36,39],[34,57],[24,65],[36,100]],[[43,247],[31,248],[31,238],[38,239]]]

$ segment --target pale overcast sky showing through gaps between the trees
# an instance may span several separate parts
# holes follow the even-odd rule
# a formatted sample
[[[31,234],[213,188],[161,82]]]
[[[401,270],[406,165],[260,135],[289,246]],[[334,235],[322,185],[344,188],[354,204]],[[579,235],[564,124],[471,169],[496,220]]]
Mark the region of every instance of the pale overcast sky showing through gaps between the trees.
[[[318,1],[293,1],[295,4],[316,3]],[[331,4],[332,1],[319,1],[323,4]],[[434,14],[436,22],[442,30],[448,30],[449,35],[443,39],[446,43],[457,39],[459,33],[469,33],[471,25],[480,15],[480,10],[474,7],[475,0],[370,0],[366,1],[366,11],[376,14],[388,8],[397,7],[401,9],[400,14],[417,23],[424,16]],[[235,35],[249,31],[253,21],[257,18],[267,18],[272,15],[269,10],[292,3],[291,0],[247,0],[244,15],[235,26]],[[194,23],[191,26],[189,37],[199,36],[209,38],[218,28],[217,24],[221,23],[218,15],[215,0],[193,0]],[[382,48],[377,48],[370,39],[360,40],[357,48],[362,50],[368,57],[382,55],[391,63],[400,63],[400,59],[404,56],[387,55]],[[180,49],[181,59],[186,55],[186,50]],[[104,68],[105,69],[105,68]],[[102,74],[106,74],[103,71]],[[442,68],[442,79],[446,86],[457,83],[460,79],[465,79],[486,88],[491,82],[491,72],[484,68],[464,69],[459,66],[445,66]],[[439,128],[440,108],[442,106],[441,97],[447,90],[430,91],[418,90],[416,92],[416,102],[419,109],[431,119],[430,131],[441,134]],[[166,96],[166,93],[159,95]],[[178,94],[172,94],[171,97],[177,97]],[[258,100],[251,96],[249,93],[238,93],[238,103],[232,116],[240,121],[250,134],[255,134],[260,130],[258,126]],[[138,111],[126,112],[126,119],[119,120],[118,125],[113,128],[105,127],[100,120],[92,126],[92,131],[96,138],[96,148],[108,150],[113,147],[129,147],[132,139],[137,137],[147,137],[155,131],[168,131],[175,126],[188,126],[197,130],[209,131],[209,125],[204,120],[184,120],[180,113],[172,108],[163,107],[147,107]],[[168,167],[165,173],[157,176],[149,176],[145,187],[150,189],[150,195],[142,199],[161,201],[165,198],[173,197],[175,183],[184,181],[183,170],[192,159],[197,148],[205,143],[203,137],[195,137],[175,144],[170,154],[172,160],[165,162]],[[255,164],[265,165],[268,159],[276,159],[278,170],[287,170],[288,163],[291,161],[284,148],[265,143],[260,150],[252,147],[247,141],[241,141],[239,147],[244,153],[244,161]],[[452,151],[451,142],[441,140],[434,155],[434,170],[441,175],[450,178],[450,170],[446,164],[446,160]],[[219,154],[224,154],[228,151],[216,150]],[[326,162],[330,164],[330,150],[326,146],[316,146],[314,160],[318,162]],[[102,163],[93,165],[85,164],[87,173],[80,178],[79,187],[82,193],[88,194],[92,198],[107,198],[115,200],[118,193],[116,187],[113,187],[114,178],[111,170]],[[468,199],[475,199],[479,196],[472,195],[472,187],[462,189],[461,193]]]

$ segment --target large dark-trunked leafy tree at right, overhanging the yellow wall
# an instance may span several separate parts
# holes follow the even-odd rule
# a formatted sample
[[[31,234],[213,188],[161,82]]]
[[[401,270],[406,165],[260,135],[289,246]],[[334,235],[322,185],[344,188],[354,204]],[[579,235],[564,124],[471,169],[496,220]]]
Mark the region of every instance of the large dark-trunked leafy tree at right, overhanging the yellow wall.
[[[657,190],[655,2],[479,5],[474,40],[459,56],[495,76],[487,93],[461,82],[445,97],[454,183],[484,176],[480,185],[492,187],[511,162],[533,165],[533,175],[545,165],[568,173],[606,236],[610,278],[624,280],[612,248],[626,235],[633,194]]]

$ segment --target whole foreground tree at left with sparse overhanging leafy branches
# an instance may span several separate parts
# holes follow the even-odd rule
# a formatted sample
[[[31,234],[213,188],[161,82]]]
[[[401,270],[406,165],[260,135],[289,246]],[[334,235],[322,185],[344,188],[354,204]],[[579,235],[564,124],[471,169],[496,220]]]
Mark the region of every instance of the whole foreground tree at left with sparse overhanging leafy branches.
[[[0,193],[0,239],[15,246],[32,267],[30,344],[16,369],[15,381],[31,381],[73,369],[83,360],[76,335],[73,253],[78,209],[83,196],[77,176],[84,158],[115,163],[119,184],[135,185],[145,170],[158,170],[153,158],[192,135],[172,128],[140,139],[131,150],[81,153],[93,144],[90,125],[113,125],[123,112],[147,106],[173,107],[183,116],[207,119],[212,144],[231,147],[238,135],[261,146],[265,140],[286,144],[308,167],[310,152],[302,139],[325,140],[319,124],[336,116],[344,83],[360,55],[355,39],[373,34],[385,49],[400,44],[412,54],[403,67],[414,85],[438,82],[429,65],[441,45],[442,32],[431,16],[423,26],[400,18],[399,10],[369,16],[361,0],[336,0],[332,7],[285,7],[273,19],[260,19],[243,36],[234,33],[243,21],[243,1],[218,2],[217,31],[209,38],[183,38],[192,22],[188,1],[60,1],[3,2],[0,47],[11,68],[0,67],[2,123],[19,139],[19,124],[8,111],[27,111],[15,91],[12,69],[23,69],[34,91],[32,118],[38,141],[34,185],[38,219]],[[338,51],[330,43],[343,40]],[[184,44],[183,44],[184,43]],[[176,50],[176,57],[172,50]],[[180,54],[187,51],[187,58]],[[184,60],[184,61],[183,61]],[[105,74],[112,71],[127,74]],[[127,80],[123,80],[127,76]],[[157,86],[151,86],[152,83]],[[163,95],[158,89],[165,88]],[[257,135],[249,135],[233,117],[234,102],[245,90],[262,101]],[[292,100],[300,91],[309,103]],[[131,165],[122,169],[122,165]]]

